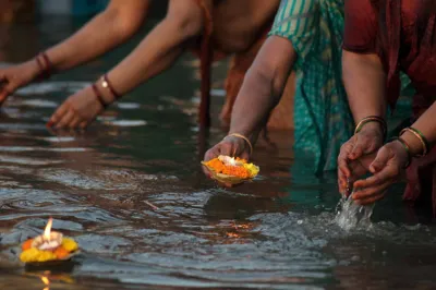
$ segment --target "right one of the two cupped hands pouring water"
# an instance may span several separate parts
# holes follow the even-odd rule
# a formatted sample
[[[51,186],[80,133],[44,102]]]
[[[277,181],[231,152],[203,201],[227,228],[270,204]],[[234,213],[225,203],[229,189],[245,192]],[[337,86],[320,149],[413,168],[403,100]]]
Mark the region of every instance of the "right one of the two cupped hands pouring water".
[[[405,174],[409,155],[399,141],[383,146],[370,165],[368,170],[374,174],[365,180],[354,182],[355,189],[351,196],[358,204],[372,204],[386,194],[387,189]]]

